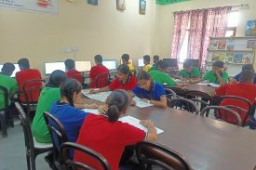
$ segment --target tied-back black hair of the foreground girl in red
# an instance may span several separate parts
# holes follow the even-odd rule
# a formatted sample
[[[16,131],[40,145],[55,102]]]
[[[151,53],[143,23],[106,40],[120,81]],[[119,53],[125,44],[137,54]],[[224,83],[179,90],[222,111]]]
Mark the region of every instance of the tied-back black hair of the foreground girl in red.
[[[125,90],[115,90],[111,93],[106,101],[109,108],[106,112],[109,122],[114,123],[119,119],[122,111],[128,108],[129,100],[128,92]]]

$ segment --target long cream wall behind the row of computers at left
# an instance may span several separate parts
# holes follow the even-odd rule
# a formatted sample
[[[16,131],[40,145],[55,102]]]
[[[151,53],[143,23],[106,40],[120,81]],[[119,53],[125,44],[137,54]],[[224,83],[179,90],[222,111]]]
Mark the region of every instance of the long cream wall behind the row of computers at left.
[[[115,0],[100,0],[98,7],[85,0],[69,3],[59,0],[59,15],[22,12],[0,8],[0,63],[17,63],[21,57],[44,72],[44,62],[74,58],[62,53],[76,46],[76,60],[119,59],[130,54],[137,64],[144,54],[154,54],[155,1],[147,1],[146,15],[139,15],[139,1],[126,1],[127,10],[116,10]]]

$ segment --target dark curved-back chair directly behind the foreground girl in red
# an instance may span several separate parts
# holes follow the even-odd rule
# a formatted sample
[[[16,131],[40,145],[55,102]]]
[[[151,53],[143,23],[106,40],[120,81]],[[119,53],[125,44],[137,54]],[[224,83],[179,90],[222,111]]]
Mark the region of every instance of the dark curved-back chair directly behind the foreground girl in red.
[[[101,169],[110,170],[109,163],[104,157],[101,156],[100,153],[97,153],[96,151],[90,150],[85,146],[72,143],[72,142],[66,142],[61,145],[61,169],[71,169],[71,170],[76,170],[77,168],[84,169],[84,170],[95,169],[93,167],[88,166],[87,164],[79,163],[69,159],[67,156],[68,150],[79,150],[83,152],[85,155],[97,161],[97,163],[101,165]]]

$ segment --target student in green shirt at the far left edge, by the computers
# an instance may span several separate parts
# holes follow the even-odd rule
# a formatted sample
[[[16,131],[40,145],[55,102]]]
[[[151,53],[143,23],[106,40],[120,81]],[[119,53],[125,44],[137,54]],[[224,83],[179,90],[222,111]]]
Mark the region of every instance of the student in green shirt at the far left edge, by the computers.
[[[10,98],[12,98],[17,90],[17,82],[15,79],[11,78],[10,75],[15,70],[15,66],[6,62],[3,65],[3,68],[0,72],[0,85],[7,88],[8,92],[8,106],[10,105]],[[0,90],[0,110],[7,109],[5,108],[4,102],[5,96],[2,90]]]

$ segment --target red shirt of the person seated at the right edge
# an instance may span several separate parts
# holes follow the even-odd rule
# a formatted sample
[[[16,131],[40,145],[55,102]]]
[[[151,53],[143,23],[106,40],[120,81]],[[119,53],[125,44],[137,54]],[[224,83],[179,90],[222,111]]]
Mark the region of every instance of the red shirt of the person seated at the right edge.
[[[240,98],[246,98],[250,101],[251,104],[253,104],[256,98],[256,85],[246,84],[246,83],[226,84],[216,88],[215,93],[216,93],[216,96],[218,97],[236,96]],[[238,101],[236,99],[223,99],[220,105],[221,106],[233,105],[233,106],[240,107],[246,111],[249,110],[249,108],[244,102]],[[234,111],[236,111],[236,109],[234,109]],[[246,116],[246,112],[240,113],[240,117],[242,121],[245,119],[245,116]],[[236,124],[236,117],[234,117],[231,114],[227,114],[227,117],[226,119],[224,119],[224,121],[228,123]]]

